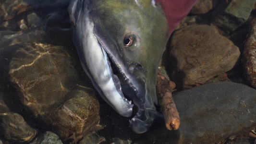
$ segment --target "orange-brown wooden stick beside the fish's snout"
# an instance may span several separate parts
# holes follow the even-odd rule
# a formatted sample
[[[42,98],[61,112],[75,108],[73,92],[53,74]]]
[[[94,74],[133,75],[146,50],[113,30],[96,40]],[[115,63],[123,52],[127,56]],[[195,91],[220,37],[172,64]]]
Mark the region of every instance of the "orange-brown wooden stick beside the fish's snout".
[[[171,96],[175,84],[164,77],[159,71],[157,76],[157,97],[164,115],[165,126],[168,130],[177,130],[180,126],[180,116]]]

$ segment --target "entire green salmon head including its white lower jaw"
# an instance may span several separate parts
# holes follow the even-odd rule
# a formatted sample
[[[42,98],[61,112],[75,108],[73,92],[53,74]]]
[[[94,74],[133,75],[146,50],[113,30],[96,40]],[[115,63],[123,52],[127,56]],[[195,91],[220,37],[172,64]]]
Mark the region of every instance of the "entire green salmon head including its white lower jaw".
[[[75,25],[74,43],[86,74],[118,113],[130,117],[134,111],[130,120],[134,132],[146,132],[158,115],[157,72],[169,39],[164,12],[152,0],[75,1],[69,11]],[[101,56],[91,52],[96,49]],[[108,78],[96,76],[98,71],[109,73]],[[110,81],[112,86],[107,86]]]

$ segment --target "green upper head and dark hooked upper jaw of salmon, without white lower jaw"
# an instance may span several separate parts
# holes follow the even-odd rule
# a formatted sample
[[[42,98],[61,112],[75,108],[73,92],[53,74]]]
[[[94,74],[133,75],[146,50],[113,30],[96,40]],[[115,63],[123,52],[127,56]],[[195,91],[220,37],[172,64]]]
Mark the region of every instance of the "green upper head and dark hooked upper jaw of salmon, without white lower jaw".
[[[121,74],[122,92],[135,105],[131,127],[146,132],[157,114],[156,78],[169,38],[165,15],[151,0],[106,0],[95,15],[95,35]]]

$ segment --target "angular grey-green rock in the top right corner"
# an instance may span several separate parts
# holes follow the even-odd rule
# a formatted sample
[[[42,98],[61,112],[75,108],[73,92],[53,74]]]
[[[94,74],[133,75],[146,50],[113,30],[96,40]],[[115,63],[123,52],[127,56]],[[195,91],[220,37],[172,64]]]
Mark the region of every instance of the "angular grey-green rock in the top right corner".
[[[222,3],[224,2],[223,0]],[[256,0],[231,0],[224,12],[222,7],[216,9],[219,14],[214,18],[212,24],[217,25],[225,32],[233,32],[249,18],[255,2]]]

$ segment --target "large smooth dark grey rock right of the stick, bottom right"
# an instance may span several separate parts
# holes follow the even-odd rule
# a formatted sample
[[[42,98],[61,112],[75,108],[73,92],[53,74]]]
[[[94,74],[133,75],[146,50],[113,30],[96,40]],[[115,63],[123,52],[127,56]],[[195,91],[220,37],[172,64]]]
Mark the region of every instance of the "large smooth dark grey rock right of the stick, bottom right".
[[[180,113],[177,131],[158,122],[148,138],[155,144],[212,144],[256,126],[256,90],[244,84],[203,84],[173,96]]]

